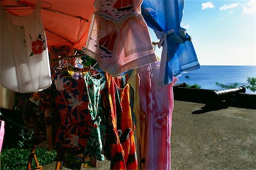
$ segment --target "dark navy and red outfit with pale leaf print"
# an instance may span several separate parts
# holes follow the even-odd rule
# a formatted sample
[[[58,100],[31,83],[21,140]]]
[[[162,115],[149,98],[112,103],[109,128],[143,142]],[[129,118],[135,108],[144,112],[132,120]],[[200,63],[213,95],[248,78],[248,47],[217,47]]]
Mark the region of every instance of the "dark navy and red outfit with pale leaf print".
[[[84,150],[92,125],[85,81],[83,78],[66,78],[61,73],[55,73],[53,79],[61,120],[56,133],[56,147]]]

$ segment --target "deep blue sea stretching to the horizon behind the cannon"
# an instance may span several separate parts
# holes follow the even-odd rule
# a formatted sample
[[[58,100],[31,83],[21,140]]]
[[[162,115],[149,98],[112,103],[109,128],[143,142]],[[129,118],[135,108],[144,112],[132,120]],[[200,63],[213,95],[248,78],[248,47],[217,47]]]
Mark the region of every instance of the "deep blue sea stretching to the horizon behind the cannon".
[[[189,76],[189,78],[185,78],[185,76]],[[247,77],[256,78],[256,66],[201,66],[200,69],[179,76],[177,83],[199,84],[203,89],[222,90],[221,87],[215,85],[216,82],[225,85],[238,83],[239,86],[242,86],[249,84],[246,82]],[[248,89],[246,89],[246,93],[256,94]]]

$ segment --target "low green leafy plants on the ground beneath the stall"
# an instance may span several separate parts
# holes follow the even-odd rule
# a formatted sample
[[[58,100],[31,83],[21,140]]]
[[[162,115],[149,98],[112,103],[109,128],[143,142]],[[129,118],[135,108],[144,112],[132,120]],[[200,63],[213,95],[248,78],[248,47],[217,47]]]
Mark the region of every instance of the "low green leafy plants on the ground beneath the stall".
[[[31,149],[5,148],[1,153],[1,169],[20,170],[26,169]],[[40,165],[52,163],[56,157],[56,151],[48,151],[46,148],[36,148],[36,157]],[[35,161],[32,168],[36,168]]]

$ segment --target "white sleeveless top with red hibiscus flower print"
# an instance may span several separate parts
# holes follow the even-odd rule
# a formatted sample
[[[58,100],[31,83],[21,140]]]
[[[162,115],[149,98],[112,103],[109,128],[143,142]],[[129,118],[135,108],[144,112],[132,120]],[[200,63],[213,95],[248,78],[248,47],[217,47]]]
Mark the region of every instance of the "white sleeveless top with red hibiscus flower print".
[[[41,3],[27,16],[16,16],[1,6],[0,82],[20,93],[37,92],[52,83]]]

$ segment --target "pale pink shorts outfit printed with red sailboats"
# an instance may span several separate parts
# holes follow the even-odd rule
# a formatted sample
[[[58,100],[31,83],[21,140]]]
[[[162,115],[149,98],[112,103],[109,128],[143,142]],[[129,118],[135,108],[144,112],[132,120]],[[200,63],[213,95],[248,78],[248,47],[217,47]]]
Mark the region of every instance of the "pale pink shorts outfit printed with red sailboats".
[[[147,24],[141,15],[142,1],[95,1],[85,54],[100,69],[117,76],[156,61]]]

